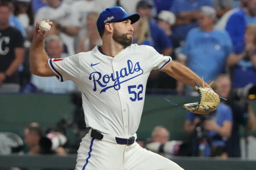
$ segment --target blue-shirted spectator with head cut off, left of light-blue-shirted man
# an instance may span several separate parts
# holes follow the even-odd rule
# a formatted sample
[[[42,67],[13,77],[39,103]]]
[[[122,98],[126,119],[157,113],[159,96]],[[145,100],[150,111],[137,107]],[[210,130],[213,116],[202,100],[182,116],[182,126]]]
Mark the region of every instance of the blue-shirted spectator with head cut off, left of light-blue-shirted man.
[[[174,0],[170,11],[176,15],[174,34],[180,40],[185,40],[189,30],[198,27],[198,9],[202,6],[212,6],[212,0]]]

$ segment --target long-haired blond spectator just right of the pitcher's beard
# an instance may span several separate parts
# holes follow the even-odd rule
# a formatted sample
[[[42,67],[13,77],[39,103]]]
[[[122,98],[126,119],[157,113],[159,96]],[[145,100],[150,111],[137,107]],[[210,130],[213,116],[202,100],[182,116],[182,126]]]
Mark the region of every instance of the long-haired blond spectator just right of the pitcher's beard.
[[[141,17],[136,23],[133,24],[133,44],[153,46],[148,18]]]

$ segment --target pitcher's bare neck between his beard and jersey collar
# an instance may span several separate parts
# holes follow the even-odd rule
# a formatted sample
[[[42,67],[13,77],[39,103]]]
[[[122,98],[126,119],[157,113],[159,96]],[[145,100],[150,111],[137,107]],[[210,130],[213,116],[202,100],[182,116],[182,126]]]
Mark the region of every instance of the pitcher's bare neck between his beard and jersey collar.
[[[125,49],[124,46],[115,42],[112,38],[103,37],[102,52],[108,56],[115,57]]]

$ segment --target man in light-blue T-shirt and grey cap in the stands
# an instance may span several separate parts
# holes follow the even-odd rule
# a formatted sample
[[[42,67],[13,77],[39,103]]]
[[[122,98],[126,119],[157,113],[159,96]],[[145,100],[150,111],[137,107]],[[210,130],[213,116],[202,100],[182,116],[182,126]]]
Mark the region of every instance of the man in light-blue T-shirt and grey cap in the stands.
[[[224,73],[227,56],[232,52],[229,34],[225,30],[214,28],[215,19],[214,8],[201,7],[198,17],[199,27],[189,31],[179,55],[180,61],[188,65],[199,77],[204,77],[206,82]],[[177,91],[183,91],[179,82]]]

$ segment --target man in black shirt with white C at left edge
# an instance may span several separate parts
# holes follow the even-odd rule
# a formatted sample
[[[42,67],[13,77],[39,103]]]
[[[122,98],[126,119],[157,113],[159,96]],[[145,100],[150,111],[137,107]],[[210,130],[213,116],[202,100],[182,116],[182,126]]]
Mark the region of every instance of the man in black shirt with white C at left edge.
[[[12,9],[9,3],[0,4],[0,92],[20,90],[18,67],[23,62],[23,36],[9,24]]]

